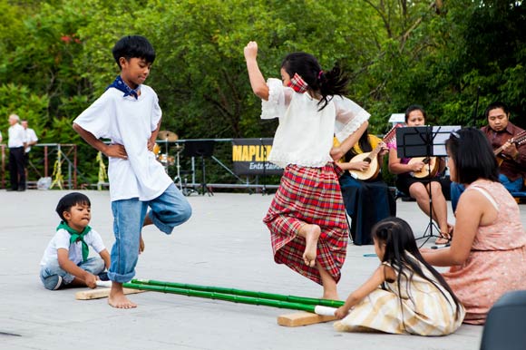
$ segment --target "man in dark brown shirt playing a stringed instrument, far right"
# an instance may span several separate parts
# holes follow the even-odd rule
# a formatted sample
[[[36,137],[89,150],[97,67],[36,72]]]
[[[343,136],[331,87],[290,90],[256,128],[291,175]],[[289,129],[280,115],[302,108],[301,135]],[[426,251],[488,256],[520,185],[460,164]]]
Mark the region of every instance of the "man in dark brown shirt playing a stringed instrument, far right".
[[[526,131],[510,122],[510,110],[503,102],[492,102],[484,112],[488,125],[481,131],[492,144],[499,162],[499,180],[510,192],[519,192],[526,178]],[[453,182],[451,202],[453,211],[463,186]]]

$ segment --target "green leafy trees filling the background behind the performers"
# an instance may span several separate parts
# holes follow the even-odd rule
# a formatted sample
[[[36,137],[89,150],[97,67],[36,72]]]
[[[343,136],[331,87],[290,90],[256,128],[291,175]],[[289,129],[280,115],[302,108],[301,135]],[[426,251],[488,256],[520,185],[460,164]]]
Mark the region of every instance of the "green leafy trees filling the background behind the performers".
[[[481,126],[485,105],[502,100],[521,124],[525,7],[515,0],[0,0],[0,127],[17,112],[43,142],[78,142],[91,176],[95,154],[71,122],[119,73],[111,50],[126,34],[154,45],[147,83],[159,94],[162,128],[181,139],[273,135],[277,122],[258,118],[248,83],[250,40],[266,78],[279,77],[292,51],[315,54],[324,69],[343,67],[348,95],[371,112],[374,133],[413,103],[433,124],[471,125],[475,117]]]

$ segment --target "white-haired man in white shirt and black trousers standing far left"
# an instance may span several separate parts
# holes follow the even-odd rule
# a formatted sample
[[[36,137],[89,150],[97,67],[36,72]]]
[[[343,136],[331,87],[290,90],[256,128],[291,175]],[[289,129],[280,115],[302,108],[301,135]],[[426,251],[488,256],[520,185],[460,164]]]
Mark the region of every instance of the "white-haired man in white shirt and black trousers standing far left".
[[[24,148],[25,131],[20,125],[20,117],[16,114],[9,116],[7,147],[9,147],[9,175],[11,187],[7,190],[25,190],[25,171],[24,171]]]

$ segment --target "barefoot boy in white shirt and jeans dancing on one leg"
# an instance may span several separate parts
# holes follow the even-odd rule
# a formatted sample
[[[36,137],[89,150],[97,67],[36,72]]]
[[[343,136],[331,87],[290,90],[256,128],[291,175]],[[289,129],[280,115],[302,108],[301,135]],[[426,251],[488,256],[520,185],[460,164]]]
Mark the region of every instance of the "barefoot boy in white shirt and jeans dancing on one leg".
[[[130,35],[119,40],[112,53],[121,75],[73,121],[73,129],[110,160],[115,243],[108,303],[131,308],[137,305],[124,296],[122,283],[135,276],[142,226],[154,224],[170,234],[190,219],[191,208],[152,152],[161,126],[161,108],[157,94],[142,83],[155,60],[153,47],[146,38]],[[99,138],[112,143],[107,145]]]

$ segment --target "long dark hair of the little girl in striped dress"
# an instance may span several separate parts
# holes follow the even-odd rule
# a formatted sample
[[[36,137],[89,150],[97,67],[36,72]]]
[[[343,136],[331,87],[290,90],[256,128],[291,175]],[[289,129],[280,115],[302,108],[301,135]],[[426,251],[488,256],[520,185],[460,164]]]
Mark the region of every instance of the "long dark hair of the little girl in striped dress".
[[[399,294],[401,293],[402,276],[406,277],[408,282],[410,282],[414,274],[416,274],[433,284],[447,298],[443,292],[443,289],[445,289],[453,298],[456,306],[456,316],[459,316],[461,306],[458,298],[454,295],[453,290],[443,279],[442,275],[424,260],[416,246],[413,230],[404,219],[392,217],[379,221],[372,229],[372,236],[378,243],[385,244],[385,254],[382,262],[389,263],[396,270]],[[443,289],[437,286],[431,277],[424,274],[420,264],[424,265],[431,272]],[[411,298],[409,291],[407,291],[407,295]],[[402,303],[402,300],[400,300],[400,303]]]

